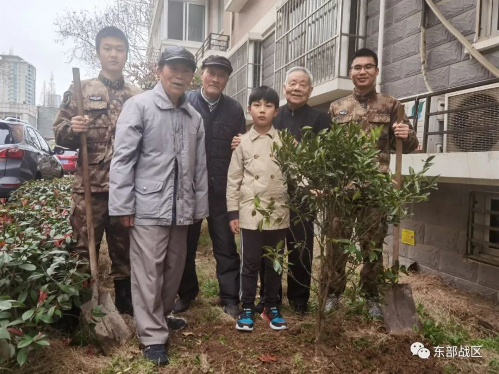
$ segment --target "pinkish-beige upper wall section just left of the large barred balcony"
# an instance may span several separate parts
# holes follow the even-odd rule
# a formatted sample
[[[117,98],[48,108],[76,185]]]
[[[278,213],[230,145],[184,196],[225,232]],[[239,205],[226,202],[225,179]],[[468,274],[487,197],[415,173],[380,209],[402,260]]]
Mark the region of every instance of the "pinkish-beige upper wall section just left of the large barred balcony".
[[[236,45],[274,5],[275,0],[248,1],[240,12],[234,13],[231,46]]]

